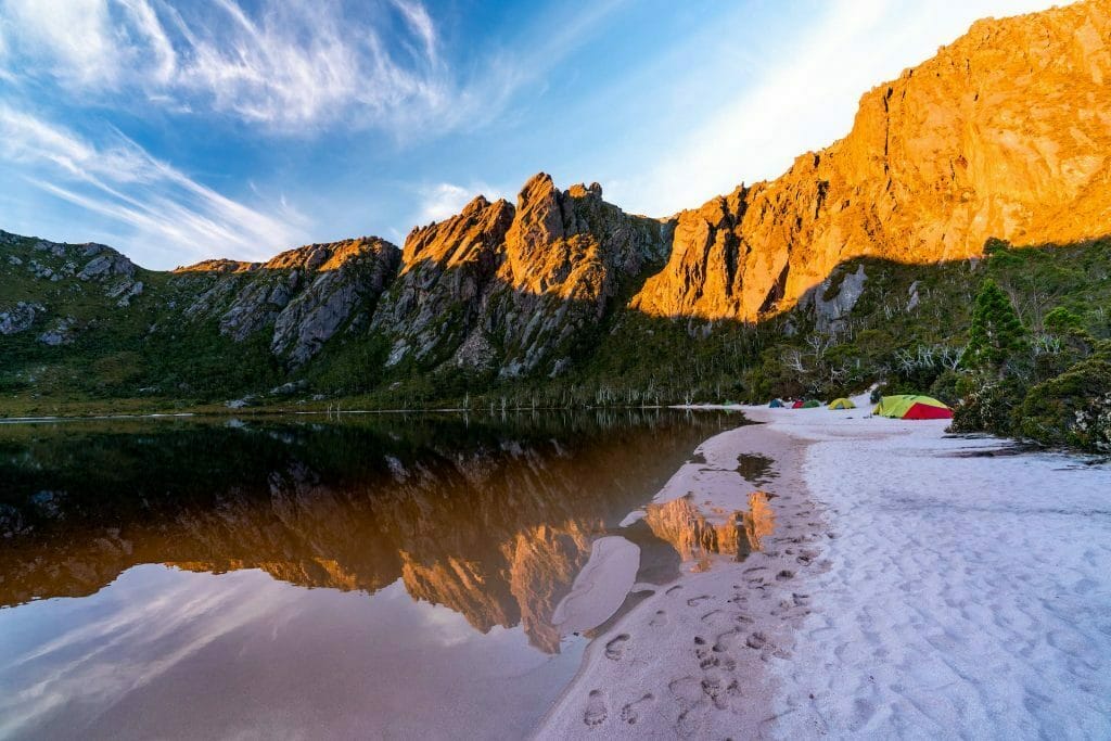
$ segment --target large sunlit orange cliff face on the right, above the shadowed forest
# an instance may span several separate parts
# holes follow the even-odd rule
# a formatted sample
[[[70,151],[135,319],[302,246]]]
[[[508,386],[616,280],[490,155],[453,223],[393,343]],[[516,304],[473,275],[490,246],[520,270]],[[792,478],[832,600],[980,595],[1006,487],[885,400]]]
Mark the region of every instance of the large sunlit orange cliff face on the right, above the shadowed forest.
[[[632,307],[752,321],[842,261],[932,263],[989,237],[1074,242],[1111,227],[1111,3],[977,22],[861,99],[848,137],[782,177],[678,214]]]

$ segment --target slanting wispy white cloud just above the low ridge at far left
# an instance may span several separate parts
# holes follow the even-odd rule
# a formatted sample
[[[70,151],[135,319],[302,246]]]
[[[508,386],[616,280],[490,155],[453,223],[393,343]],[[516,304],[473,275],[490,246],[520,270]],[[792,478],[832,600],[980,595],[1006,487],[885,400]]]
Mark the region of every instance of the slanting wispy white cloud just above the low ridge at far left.
[[[164,261],[227,253],[269,257],[306,241],[304,219],[284,202],[250,208],[151,157],[119,132],[107,144],[0,106],[0,158],[30,184],[116,222]]]

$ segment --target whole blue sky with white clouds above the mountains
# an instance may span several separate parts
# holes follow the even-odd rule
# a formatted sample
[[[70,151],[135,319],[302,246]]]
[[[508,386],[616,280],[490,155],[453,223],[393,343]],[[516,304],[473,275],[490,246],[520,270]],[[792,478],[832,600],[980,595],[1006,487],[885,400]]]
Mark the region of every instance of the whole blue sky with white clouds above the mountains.
[[[1043,0],[0,0],[0,229],[148,268],[413,226],[539,171],[665,217]]]

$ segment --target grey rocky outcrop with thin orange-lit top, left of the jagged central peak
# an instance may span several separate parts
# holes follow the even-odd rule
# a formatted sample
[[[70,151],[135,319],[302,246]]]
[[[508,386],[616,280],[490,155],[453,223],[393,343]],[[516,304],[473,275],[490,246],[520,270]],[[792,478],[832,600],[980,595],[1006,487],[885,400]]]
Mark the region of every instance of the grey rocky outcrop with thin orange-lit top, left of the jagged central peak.
[[[203,289],[186,308],[188,319],[216,319],[222,334],[240,342],[269,331],[273,353],[296,367],[343,327],[369,321],[399,259],[393,244],[362,237],[309,244],[264,263],[210,260],[174,273],[179,288]]]

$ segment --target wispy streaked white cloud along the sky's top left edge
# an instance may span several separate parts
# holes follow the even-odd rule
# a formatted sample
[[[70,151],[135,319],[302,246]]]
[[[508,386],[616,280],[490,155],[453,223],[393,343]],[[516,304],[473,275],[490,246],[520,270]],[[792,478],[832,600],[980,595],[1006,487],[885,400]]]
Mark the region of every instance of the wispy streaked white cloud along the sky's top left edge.
[[[476,106],[442,62],[417,0],[352,16],[337,2],[0,0],[10,74],[90,96],[142,91],[169,110],[211,110],[304,133],[342,121],[403,133],[448,129]],[[11,61],[11,60],[10,60]]]

